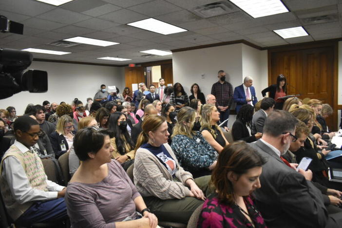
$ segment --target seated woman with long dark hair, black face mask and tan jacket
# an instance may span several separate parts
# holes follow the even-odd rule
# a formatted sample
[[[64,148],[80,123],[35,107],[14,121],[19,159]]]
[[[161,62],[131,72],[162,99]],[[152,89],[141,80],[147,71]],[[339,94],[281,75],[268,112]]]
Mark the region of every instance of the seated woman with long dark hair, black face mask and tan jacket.
[[[114,132],[111,145],[114,147],[113,158],[121,164],[124,170],[133,163],[135,151],[130,134],[127,131],[126,115],[120,112],[111,114],[108,129]]]

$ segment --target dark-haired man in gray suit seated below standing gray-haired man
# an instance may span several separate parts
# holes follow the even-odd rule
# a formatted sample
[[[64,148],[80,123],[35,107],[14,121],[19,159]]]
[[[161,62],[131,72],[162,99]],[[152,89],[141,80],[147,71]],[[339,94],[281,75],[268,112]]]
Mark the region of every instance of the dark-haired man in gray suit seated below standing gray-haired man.
[[[262,99],[260,110],[252,118],[252,134],[263,133],[266,117],[273,111],[274,105],[275,101],[273,98],[266,97]]]

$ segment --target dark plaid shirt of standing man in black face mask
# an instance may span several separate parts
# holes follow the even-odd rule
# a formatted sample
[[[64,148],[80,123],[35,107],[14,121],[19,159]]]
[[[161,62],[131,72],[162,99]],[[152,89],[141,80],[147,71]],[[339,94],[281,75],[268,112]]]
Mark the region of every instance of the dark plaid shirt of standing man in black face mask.
[[[227,81],[223,84],[221,82],[216,82],[211,87],[211,94],[216,98],[216,106],[229,106],[233,101],[233,87]]]

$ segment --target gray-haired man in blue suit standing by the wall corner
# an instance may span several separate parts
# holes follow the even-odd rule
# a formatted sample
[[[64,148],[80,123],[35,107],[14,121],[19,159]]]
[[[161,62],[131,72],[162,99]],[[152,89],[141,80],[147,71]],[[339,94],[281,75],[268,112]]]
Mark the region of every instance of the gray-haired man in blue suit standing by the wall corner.
[[[255,95],[255,89],[252,85],[253,78],[247,76],[242,85],[235,87],[233,99],[236,103],[236,113],[239,112],[242,105],[250,104],[251,106],[254,106],[258,102]]]

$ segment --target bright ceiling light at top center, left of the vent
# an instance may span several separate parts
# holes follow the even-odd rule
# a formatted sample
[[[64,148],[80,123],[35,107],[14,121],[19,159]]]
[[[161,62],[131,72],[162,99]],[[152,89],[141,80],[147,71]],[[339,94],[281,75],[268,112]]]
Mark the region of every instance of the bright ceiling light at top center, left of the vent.
[[[127,25],[131,25],[137,28],[149,30],[155,33],[160,33],[163,35],[169,35],[173,33],[181,33],[186,32],[188,30],[179,28],[177,26],[174,26],[172,24],[165,23],[163,21],[149,18],[144,20],[135,21],[133,23],[129,23]]]

